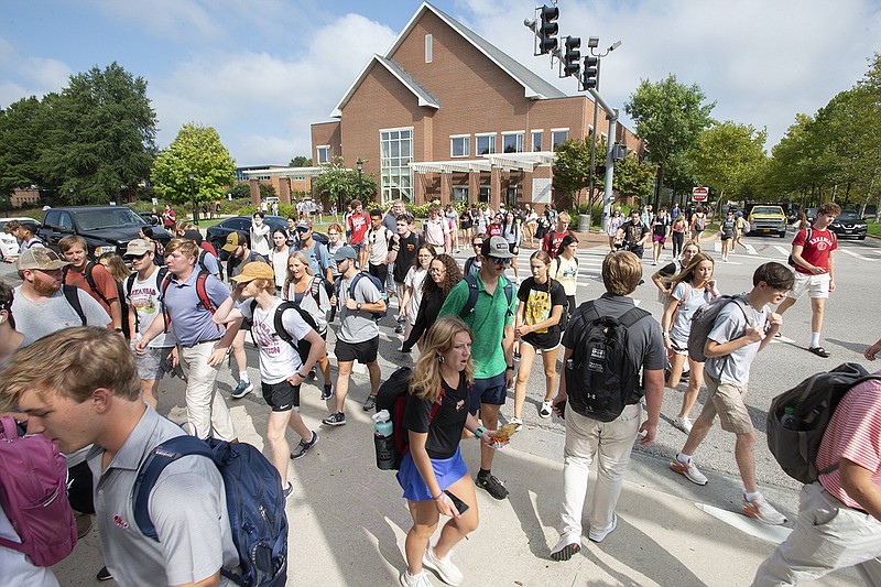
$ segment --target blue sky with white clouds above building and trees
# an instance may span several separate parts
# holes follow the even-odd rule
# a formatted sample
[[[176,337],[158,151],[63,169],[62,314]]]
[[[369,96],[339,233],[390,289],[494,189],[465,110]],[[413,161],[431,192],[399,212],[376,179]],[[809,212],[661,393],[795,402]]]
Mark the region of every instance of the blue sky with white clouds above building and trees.
[[[166,148],[186,122],[218,130],[239,166],[311,153],[330,112],[416,0],[3,0],[0,108],[59,91],[70,75],[118,62],[148,83]],[[529,0],[434,0],[454,19],[569,95],[533,56]],[[547,0],[550,4],[550,0]],[[813,115],[881,52],[878,0],[559,0],[561,35],[621,45],[602,61],[603,99],[621,110],[642,79],[697,84],[713,117],[768,129]],[[583,48],[586,53],[586,48]]]

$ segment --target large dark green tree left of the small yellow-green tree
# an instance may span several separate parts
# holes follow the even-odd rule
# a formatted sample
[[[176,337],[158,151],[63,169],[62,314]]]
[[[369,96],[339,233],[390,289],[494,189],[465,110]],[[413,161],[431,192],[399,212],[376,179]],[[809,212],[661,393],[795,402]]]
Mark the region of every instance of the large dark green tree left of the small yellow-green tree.
[[[156,115],[146,81],[113,62],[70,76],[43,99],[47,132],[37,162],[44,187],[72,203],[115,200],[150,173]]]

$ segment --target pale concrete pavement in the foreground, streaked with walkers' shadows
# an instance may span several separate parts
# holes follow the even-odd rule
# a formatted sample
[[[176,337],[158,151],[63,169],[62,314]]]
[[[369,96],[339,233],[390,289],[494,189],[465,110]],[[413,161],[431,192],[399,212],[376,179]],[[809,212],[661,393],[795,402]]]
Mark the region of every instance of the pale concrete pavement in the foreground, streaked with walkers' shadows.
[[[318,431],[320,442],[291,466],[289,585],[399,585],[398,574],[405,566],[403,544],[410,514],[394,472],[381,471],[374,464],[372,423],[360,406],[366,378],[356,378],[354,383],[347,402],[348,424],[333,430],[320,426],[327,407],[318,399],[317,388],[312,383],[303,387],[302,414],[306,424]],[[163,382],[163,388],[168,385]],[[185,417],[183,389],[177,380],[171,389],[161,395],[160,412],[181,421]],[[268,410],[259,394],[229,401],[229,405],[241,439],[264,448]],[[496,457],[493,472],[505,481],[511,494],[496,501],[477,490],[480,528],[453,554],[465,573],[464,585],[749,585],[755,568],[773,550],[773,540],[785,535],[783,529],[726,512],[726,508],[739,510],[739,503],[717,503],[706,488],[696,488],[704,501],[721,508],[716,514],[728,515],[740,528],[708,514],[694,499],[672,494],[670,487],[687,496],[695,486],[685,488],[690,483],[666,470],[666,461],[634,453],[617,510],[618,529],[602,544],[585,536],[581,553],[572,561],[551,561],[548,551],[558,537],[562,446],[558,432],[524,426]],[[463,442],[472,474],[478,448],[474,439]],[[592,483],[591,476],[590,487]],[[720,476],[713,476],[707,487],[721,489],[725,485]],[[678,491],[679,487],[684,490]],[[587,520],[587,507],[585,510]],[[97,531],[93,530],[54,570],[62,585],[93,586],[99,585],[95,574],[102,565]],[[436,577],[432,583],[442,585]],[[861,581],[855,573],[837,573],[813,585]]]

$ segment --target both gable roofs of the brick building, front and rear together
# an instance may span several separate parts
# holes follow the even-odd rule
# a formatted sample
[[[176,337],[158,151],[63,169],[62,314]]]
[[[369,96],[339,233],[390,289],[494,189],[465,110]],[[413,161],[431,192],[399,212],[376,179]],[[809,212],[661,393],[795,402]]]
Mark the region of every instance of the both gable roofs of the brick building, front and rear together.
[[[504,73],[511,76],[516,83],[523,86],[524,95],[526,98],[531,99],[545,99],[545,98],[565,98],[566,94],[561,91],[559,89],[555,88],[548,81],[545,81],[536,74],[532,73],[529,68],[521,65],[519,62],[513,59],[502,50],[487,41],[486,39],[481,37],[457,20],[453,19],[450,15],[446,14],[442,10],[433,7],[428,2],[423,2],[420,9],[413,14],[413,18],[410,19],[404,30],[401,31],[401,34],[398,35],[394,43],[392,44],[391,48],[385,52],[385,56],[381,55],[373,55],[371,59],[367,63],[361,73],[355,79],[349,89],[342,96],[342,99],[339,100],[334,111],[330,113],[333,118],[340,118],[342,116],[342,108],[351,98],[355,90],[361,84],[363,78],[367,76],[370,68],[373,66],[374,63],[379,63],[383,67],[385,67],[393,76],[401,80],[411,93],[413,93],[416,98],[418,98],[420,106],[428,106],[431,108],[440,108],[440,102],[432,96],[432,94],[422,87],[410,74],[407,74],[403,67],[401,67],[394,59],[391,58],[394,55],[394,52],[398,47],[403,43],[403,41],[407,37],[410,32],[416,25],[420,18],[426,12],[433,12],[438,19],[444,21],[450,29],[459,33],[463,39],[468,41],[475,48],[486,55],[491,62],[493,62],[497,66],[499,66]]]

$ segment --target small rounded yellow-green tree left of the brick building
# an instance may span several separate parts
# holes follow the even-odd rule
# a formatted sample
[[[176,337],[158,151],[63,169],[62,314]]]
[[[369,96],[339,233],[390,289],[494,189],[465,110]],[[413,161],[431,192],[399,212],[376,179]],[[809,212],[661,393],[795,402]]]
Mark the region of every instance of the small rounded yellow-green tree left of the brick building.
[[[236,162],[214,127],[187,122],[168,149],[153,163],[152,181],[156,193],[174,204],[191,198],[189,173],[196,191],[196,202],[213,202],[226,196],[236,178]]]

